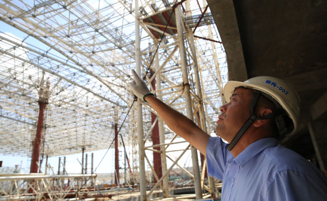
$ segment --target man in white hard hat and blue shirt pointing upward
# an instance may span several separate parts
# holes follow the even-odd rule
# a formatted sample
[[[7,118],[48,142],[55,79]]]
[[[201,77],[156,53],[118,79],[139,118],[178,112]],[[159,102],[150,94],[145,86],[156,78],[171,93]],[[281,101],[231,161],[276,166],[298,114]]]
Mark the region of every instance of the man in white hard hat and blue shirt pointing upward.
[[[176,134],[207,156],[210,176],[222,179],[221,200],[327,200],[327,181],[313,164],[278,144],[294,133],[299,96],[285,81],[268,76],[224,87],[228,104],[210,137],[191,120],[161,102],[135,71],[129,83]]]

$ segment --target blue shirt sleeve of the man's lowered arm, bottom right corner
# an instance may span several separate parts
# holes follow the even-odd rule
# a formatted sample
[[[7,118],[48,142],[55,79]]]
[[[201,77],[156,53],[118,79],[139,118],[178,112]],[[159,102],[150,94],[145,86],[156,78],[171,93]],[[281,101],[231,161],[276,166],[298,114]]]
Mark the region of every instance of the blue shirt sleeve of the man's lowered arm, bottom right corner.
[[[284,170],[268,188],[266,200],[327,200],[327,183],[301,172]]]

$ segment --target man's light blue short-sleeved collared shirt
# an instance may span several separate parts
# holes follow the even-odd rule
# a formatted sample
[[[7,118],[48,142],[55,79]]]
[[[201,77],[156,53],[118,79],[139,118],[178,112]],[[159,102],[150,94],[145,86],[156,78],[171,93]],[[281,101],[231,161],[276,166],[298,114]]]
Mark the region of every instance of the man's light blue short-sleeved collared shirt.
[[[236,158],[221,138],[207,144],[209,176],[222,180],[221,200],[327,200],[319,170],[274,138],[252,143]]]

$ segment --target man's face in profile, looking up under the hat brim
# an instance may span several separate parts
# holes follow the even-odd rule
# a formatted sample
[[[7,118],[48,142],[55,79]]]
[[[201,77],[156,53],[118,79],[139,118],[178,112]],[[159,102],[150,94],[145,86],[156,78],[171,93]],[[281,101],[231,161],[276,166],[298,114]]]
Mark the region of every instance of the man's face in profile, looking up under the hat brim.
[[[250,117],[252,97],[251,89],[237,88],[230,97],[230,102],[220,107],[221,115],[216,122],[215,131],[228,143]]]

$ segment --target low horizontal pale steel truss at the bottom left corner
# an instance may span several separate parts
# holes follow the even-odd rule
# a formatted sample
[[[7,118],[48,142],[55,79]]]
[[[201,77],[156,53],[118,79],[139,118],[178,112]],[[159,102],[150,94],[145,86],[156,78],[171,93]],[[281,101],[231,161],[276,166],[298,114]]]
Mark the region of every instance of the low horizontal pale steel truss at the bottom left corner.
[[[0,200],[63,200],[98,193],[96,174],[1,175]]]

